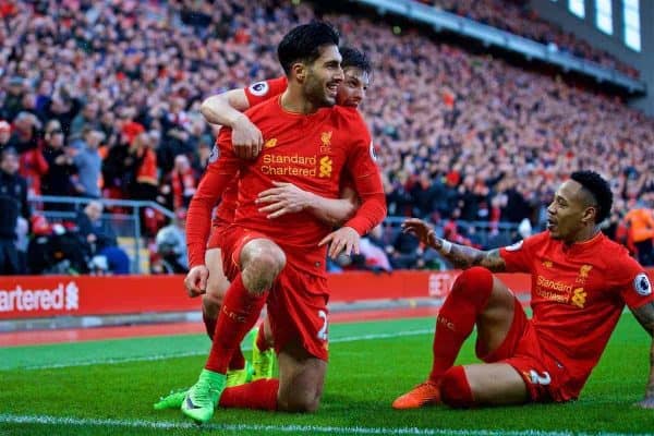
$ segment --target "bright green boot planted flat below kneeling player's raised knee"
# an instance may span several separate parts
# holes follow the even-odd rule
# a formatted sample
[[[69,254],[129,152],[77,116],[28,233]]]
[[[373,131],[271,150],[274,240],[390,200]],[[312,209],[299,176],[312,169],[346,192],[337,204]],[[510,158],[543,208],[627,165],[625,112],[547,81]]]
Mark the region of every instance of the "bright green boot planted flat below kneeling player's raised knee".
[[[197,423],[209,421],[225,390],[226,383],[225,374],[202,370],[197,383],[186,392],[182,402],[182,413]]]

